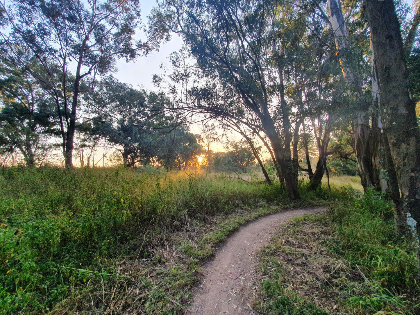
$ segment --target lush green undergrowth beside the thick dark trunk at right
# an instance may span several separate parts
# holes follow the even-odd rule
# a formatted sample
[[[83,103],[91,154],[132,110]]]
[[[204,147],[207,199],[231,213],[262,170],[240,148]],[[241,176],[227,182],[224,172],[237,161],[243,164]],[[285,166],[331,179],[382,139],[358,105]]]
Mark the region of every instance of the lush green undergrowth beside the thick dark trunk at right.
[[[354,265],[363,266],[381,288],[401,293],[415,288],[418,261],[412,245],[398,239],[392,203],[369,190],[352,207],[336,207],[339,242],[335,250]]]

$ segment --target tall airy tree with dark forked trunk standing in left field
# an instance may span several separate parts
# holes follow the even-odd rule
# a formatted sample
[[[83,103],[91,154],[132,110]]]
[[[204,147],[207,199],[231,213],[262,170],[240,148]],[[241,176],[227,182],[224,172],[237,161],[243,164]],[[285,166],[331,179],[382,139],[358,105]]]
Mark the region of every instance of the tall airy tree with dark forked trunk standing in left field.
[[[44,67],[42,80],[55,98],[66,167],[72,167],[79,95],[95,87],[97,76],[113,71],[119,58],[129,61],[157,49],[165,32],[151,25],[144,42],[134,40],[138,0],[14,0],[3,12],[11,27],[10,34],[2,34],[4,45],[27,47]],[[36,69],[27,70],[37,75]]]

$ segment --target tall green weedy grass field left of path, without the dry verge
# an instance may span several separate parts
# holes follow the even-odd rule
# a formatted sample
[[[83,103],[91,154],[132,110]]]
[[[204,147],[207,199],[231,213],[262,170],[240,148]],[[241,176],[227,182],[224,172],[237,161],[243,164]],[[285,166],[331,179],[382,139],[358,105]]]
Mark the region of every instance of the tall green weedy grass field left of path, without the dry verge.
[[[127,254],[150,230],[285,197],[278,185],[122,168],[10,168],[0,189],[2,314],[47,312],[81,283],[106,281],[114,272],[101,261]]]

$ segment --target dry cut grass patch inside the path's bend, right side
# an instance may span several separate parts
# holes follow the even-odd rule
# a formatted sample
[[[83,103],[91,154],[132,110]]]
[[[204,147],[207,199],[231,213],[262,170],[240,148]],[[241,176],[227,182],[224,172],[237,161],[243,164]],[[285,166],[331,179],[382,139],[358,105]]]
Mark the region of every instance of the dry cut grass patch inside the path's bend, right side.
[[[362,267],[331,250],[335,226],[325,216],[286,223],[259,253],[258,314],[415,314],[407,297],[381,289]]]

